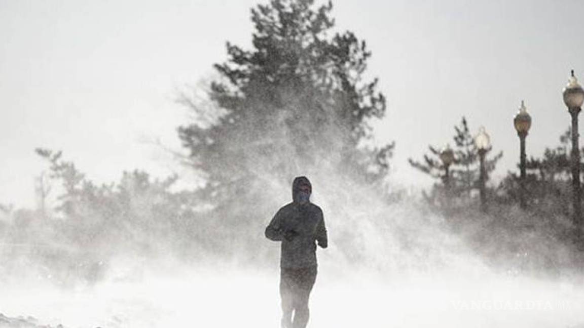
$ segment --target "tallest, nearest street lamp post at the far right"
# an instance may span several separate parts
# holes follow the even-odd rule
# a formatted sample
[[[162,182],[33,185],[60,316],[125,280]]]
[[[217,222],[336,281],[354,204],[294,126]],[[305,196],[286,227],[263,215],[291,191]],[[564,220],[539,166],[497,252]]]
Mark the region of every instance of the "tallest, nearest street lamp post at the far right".
[[[584,90],[578,84],[574,71],[568,79],[568,85],[563,90],[564,103],[572,116],[572,205],[573,223],[576,228],[576,240],[580,241],[582,235],[582,206],[580,204],[582,193],[580,189],[580,150],[578,145],[578,114],[584,103]]]

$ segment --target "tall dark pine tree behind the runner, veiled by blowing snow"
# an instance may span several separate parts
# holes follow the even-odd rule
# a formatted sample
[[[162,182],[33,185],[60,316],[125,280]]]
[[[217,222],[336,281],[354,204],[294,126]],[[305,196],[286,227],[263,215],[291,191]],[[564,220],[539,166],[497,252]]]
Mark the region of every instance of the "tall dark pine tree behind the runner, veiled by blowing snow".
[[[247,238],[233,226],[261,231],[273,215],[264,207],[276,206],[270,196],[296,175],[376,183],[388,172],[393,144],[367,145],[368,120],[385,114],[377,79],[361,77],[371,53],[352,32],[329,36],[331,11],[331,2],[312,0],[258,5],[251,11],[253,47],[227,43],[227,62],[215,64],[215,106],[201,110],[183,97],[216,118],[180,127],[179,137],[206,178],[210,215],[231,227],[225,239]]]

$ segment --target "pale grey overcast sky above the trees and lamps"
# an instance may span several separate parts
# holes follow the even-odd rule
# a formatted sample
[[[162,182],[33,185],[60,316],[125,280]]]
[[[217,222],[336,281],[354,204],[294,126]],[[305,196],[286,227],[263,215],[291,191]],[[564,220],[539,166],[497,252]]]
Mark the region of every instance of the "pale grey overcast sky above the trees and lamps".
[[[265,2],[265,1],[263,1]],[[249,8],[259,1],[0,0],[0,203],[32,205],[34,153],[61,149],[97,182],[123,170],[180,171],[152,139],[179,148],[188,113],[176,90],[213,74],[225,41],[249,47]],[[584,78],[583,1],[333,2],[339,30],[367,41],[395,140],[394,182],[427,185],[409,168],[427,144],[451,142],[453,125],[484,125],[502,150],[496,176],[519,158],[512,117],[533,117],[528,155],[558,144],[569,114],[569,70]]]

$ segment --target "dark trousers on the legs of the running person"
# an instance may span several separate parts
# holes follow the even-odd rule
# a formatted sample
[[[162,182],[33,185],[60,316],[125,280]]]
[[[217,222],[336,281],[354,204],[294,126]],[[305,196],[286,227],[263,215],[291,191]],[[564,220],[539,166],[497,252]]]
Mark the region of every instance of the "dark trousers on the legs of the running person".
[[[308,323],[308,296],[317,278],[317,266],[280,268],[282,328],[304,328]],[[294,311],[294,320],[292,312]]]

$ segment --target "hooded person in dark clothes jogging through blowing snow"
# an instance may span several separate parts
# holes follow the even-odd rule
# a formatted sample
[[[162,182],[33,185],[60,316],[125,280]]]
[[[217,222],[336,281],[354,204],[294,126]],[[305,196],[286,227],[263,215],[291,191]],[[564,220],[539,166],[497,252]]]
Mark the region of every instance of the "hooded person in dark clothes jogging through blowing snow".
[[[266,227],[266,238],[281,242],[280,296],[283,328],[304,328],[308,323],[308,296],[317,278],[317,243],[328,238],[322,210],[311,203],[312,185],[299,176],[292,183],[292,202],[284,205]],[[292,312],[294,311],[294,320]]]

